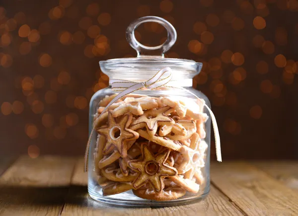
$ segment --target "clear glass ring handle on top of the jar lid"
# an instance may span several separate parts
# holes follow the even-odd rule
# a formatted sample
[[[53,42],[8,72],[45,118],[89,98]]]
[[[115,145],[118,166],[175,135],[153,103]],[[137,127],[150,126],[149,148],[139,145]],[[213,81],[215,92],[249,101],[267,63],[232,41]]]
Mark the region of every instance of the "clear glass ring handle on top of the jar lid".
[[[148,47],[141,44],[135,37],[135,29],[144,22],[157,22],[161,24],[167,30],[166,41],[163,44],[158,45],[156,47]],[[145,16],[145,17],[136,19],[127,27],[126,39],[128,43],[131,45],[131,47],[137,51],[138,57],[142,57],[146,54],[149,54],[150,51],[153,51],[153,50],[155,51],[155,53],[157,52],[161,57],[164,57],[163,54],[166,51],[168,51],[176,42],[177,33],[175,28],[172,26],[172,24],[166,21],[165,19],[160,18],[158,16]]]

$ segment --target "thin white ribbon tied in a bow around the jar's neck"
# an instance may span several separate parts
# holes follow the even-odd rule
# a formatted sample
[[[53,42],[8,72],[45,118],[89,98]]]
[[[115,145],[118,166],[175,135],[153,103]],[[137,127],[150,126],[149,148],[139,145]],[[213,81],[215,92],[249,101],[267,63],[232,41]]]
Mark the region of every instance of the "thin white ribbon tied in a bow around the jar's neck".
[[[185,88],[166,86],[166,84],[169,81],[171,81],[171,79],[172,79],[172,72],[171,72],[170,68],[161,69],[153,77],[151,77],[149,80],[147,80],[145,82],[133,82],[133,81],[123,80],[123,79],[110,79],[112,89],[114,91],[121,91],[121,92],[115,98],[113,98],[111,100],[111,102],[104,108],[104,110],[102,111],[102,113],[100,115],[102,115],[109,108],[109,106],[111,106],[113,103],[115,103],[120,98],[122,98],[125,95],[130,94],[134,91],[140,90],[142,88],[154,89],[154,88],[158,88],[158,87],[161,87],[161,86],[179,88],[179,89],[182,89],[182,90],[185,90],[185,91],[189,92],[190,94],[194,95],[196,98],[198,98],[199,100],[202,101],[201,98],[199,98],[197,95],[195,95],[194,93],[190,92],[189,90],[187,90]],[[216,122],[216,118],[215,118],[212,110],[206,105],[205,102],[204,102],[204,106],[210,112],[211,120],[212,120],[212,123],[213,123],[217,160],[222,162],[221,140],[220,140],[220,133],[219,133],[218,125],[217,125],[217,122]],[[93,131],[94,131],[94,128],[92,129],[91,134],[89,136],[89,140],[88,140],[86,151],[85,151],[85,165],[84,165],[84,171],[85,172],[87,171],[89,145],[90,145],[90,141],[91,141]]]

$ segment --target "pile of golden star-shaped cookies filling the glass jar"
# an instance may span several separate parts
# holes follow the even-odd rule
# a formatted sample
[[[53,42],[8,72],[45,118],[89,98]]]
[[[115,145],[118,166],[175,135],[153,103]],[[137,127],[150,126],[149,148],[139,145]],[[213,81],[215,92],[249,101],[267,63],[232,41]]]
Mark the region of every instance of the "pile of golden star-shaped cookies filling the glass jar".
[[[104,196],[133,189],[143,199],[167,201],[198,193],[208,144],[203,102],[186,97],[129,94],[99,102],[94,171]]]

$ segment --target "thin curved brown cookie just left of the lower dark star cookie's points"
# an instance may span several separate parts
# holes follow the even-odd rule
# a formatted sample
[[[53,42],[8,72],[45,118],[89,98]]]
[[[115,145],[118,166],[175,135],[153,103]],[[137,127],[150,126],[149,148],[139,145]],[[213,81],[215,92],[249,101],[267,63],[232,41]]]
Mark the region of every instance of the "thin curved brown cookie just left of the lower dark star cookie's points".
[[[120,168],[115,167],[106,167],[101,170],[101,173],[104,177],[111,181],[116,182],[130,182],[134,181],[137,177],[137,173],[129,174],[127,176],[124,176],[121,172]]]

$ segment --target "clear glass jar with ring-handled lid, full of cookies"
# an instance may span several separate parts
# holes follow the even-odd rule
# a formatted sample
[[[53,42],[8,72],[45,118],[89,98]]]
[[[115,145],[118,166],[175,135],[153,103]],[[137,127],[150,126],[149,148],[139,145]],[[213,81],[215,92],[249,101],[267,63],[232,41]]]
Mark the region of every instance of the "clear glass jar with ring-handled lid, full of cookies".
[[[140,44],[134,30],[144,22],[163,25],[167,40],[157,47]],[[114,79],[123,79],[141,83],[143,88],[120,97],[110,85],[93,95],[89,195],[122,206],[171,206],[198,201],[210,190],[211,120],[204,106],[206,103],[210,107],[210,102],[192,88],[192,78],[201,71],[202,64],[164,58],[176,41],[176,31],[160,17],[137,19],[126,35],[137,58],[101,61],[100,68],[109,76],[110,84]],[[164,68],[170,70],[170,81],[150,89],[146,81]]]

